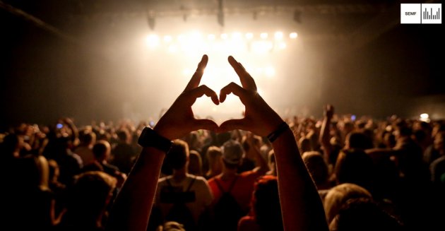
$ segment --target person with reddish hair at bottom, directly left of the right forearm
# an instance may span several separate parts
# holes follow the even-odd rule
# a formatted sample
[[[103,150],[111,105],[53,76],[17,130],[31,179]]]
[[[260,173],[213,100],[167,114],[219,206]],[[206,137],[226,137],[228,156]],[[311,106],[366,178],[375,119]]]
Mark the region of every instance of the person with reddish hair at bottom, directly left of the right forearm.
[[[250,214],[239,220],[239,231],[283,230],[277,177],[263,176],[256,180]]]

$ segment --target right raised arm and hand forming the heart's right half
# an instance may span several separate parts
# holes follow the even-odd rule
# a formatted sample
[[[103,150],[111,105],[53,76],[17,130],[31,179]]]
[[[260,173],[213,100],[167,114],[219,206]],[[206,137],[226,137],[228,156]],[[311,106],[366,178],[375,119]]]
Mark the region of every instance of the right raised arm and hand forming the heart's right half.
[[[263,100],[254,78],[233,57],[229,63],[239,76],[242,87],[230,83],[220,92],[220,102],[233,93],[246,107],[243,119],[232,119],[220,125],[220,131],[243,129],[259,136],[274,131],[278,138],[272,142],[278,168],[278,189],[285,230],[328,230],[324,209],[316,187],[299,155],[297,143],[283,119]]]

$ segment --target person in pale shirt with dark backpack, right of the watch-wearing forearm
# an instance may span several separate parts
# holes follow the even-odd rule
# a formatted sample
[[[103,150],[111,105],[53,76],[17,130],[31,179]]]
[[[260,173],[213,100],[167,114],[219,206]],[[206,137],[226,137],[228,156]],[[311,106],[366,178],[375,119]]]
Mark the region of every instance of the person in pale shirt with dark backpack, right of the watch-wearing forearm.
[[[172,166],[173,174],[159,179],[153,207],[160,211],[160,216],[150,219],[150,227],[177,221],[185,230],[208,230],[213,195],[206,179],[187,173],[188,144],[175,140],[165,159]]]

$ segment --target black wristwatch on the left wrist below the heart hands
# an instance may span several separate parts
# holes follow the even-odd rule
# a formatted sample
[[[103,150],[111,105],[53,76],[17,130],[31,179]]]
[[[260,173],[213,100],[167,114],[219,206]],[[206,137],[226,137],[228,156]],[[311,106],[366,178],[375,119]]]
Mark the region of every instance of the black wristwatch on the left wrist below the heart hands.
[[[139,136],[138,139],[138,144],[140,146],[143,146],[144,148],[146,147],[157,148],[165,153],[168,153],[170,148],[172,148],[172,143],[173,141],[170,141],[168,138],[161,136],[148,126],[146,126],[142,130],[141,136]]]

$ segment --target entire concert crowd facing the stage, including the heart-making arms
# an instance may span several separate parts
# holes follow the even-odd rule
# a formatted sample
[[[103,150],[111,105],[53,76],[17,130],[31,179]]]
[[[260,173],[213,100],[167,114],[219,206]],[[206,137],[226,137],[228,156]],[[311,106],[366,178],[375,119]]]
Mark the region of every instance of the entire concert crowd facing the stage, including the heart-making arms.
[[[232,57],[242,86],[219,98],[199,86],[207,59],[154,126],[167,153],[138,145],[146,122],[63,118],[1,134],[0,229],[444,230],[444,121],[355,119],[326,105],[283,125]],[[230,93],[243,119],[194,119],[196,97]]]

